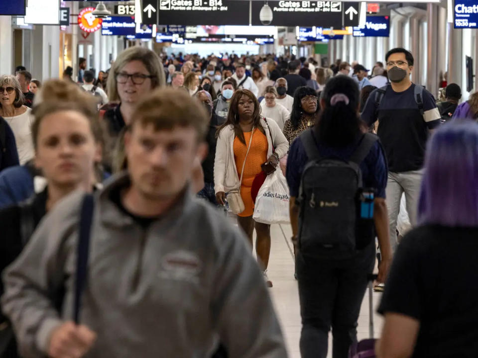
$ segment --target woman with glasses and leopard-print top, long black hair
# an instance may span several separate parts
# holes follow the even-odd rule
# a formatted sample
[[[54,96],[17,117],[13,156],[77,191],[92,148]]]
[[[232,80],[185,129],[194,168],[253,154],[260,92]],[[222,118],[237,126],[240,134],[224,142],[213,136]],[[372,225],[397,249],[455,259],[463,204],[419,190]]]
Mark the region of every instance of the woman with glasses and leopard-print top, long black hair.
[[[285,122],[283,129],[289,145],[303,131],[314,126],[319,109],[319,97],[314,89],[303,86],[295,90],[290,119]]]

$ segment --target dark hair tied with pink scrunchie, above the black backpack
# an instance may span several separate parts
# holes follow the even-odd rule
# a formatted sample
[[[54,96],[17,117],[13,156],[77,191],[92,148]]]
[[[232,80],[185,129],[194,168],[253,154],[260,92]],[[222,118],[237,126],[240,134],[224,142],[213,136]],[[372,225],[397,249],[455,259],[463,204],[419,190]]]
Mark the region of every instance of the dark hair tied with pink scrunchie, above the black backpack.
[[[322,108],[316,130],[319,141],[329,147],[345,147],[360,133],[359,86],[348,76],[329,80],[322,94]]]

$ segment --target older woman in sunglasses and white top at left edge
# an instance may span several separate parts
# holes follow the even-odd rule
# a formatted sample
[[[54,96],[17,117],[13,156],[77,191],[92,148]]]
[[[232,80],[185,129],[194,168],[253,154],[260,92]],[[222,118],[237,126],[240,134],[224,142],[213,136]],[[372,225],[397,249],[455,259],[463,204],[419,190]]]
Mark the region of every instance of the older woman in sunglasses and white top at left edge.
[[[24,99],[15,76],[0,77],[0,116],[13,131],[20,164],[28,162],[34,156],[30,130],[31,109],[23,105]]]

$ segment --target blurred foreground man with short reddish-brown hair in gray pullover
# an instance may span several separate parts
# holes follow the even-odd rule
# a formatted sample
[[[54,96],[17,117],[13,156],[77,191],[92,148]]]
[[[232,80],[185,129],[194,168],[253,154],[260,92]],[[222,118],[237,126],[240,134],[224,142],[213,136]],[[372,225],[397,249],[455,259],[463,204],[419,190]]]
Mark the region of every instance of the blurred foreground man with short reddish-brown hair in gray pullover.
[[[132,118],[128,170],[95,196],[81,324],[72,317],[82,192],[48,213],[4,273],[20,355],[209,358],[221,342],[231,358],[287,357],[244,235],[189,189],[206,155],[204,108],[161,89]]]

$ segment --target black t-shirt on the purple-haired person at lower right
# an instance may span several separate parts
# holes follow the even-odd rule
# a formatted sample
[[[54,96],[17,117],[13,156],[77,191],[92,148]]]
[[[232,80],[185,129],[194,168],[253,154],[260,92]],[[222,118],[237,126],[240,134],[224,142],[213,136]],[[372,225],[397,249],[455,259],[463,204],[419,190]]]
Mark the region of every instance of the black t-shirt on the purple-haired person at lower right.
[[[478,356],[478,228],[426,225],[394,257],[378,312],[420,321],[413,357]]]

